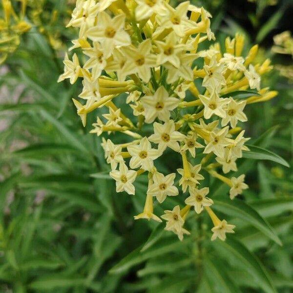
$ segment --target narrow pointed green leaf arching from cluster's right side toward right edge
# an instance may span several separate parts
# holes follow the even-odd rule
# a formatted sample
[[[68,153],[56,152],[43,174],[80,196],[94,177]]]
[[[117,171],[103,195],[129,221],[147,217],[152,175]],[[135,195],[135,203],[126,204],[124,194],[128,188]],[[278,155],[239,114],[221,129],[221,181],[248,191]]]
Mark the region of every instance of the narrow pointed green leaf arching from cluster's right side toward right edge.
[[[290,165],[279,155],[273,153],[270,150],[259,146],[250,146],[246,145],[250,148],[250,151],[243,151],[243,158],[254,159],[254,160],[269,160],[272,162],[279,163],[283,166],[290,167]]]

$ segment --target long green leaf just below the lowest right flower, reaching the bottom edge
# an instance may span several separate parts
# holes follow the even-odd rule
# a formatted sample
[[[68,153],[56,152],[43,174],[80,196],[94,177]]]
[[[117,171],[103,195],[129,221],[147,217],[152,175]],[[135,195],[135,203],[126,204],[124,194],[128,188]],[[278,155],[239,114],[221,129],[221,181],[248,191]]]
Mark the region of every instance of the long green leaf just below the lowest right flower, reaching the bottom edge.
[[[272,280],[259,260],[234,237],[227,237],[226,241],[217,240],[212,245],[220,255],[237,263],[251,274],[259,286],[267,293],[276,293]]]

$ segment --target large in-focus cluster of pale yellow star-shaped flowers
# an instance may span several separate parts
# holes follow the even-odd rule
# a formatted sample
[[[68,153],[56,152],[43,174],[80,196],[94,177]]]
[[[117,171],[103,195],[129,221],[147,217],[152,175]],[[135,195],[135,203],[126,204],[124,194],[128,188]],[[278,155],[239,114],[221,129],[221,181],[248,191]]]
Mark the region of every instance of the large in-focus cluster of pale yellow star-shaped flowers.
[[[244,36],[236,34],[221,48],[210,20],[208,11],[189,1],[173,8],[164,0],[77,0],[68,24],[79,28],[72,41],[77,53],[72,60],[66,54],[59,78],[71,84],[83,79],[80,99],[73,102],[84,126],[88,113],[108,109],[90,132],[107,135],[102,146],[116,191],[135,194],[135,180],[148,173],[145,207],[134,218],[164,219],[166,230],[180,240],[189,234],[184,226],[193,209],[209,214],[211,240],[233,232],[235,226],[213,212],[212,194],[208,186],[199,187],[200,181],[203,174],[223,181],[231,199],[248,188],[245,174],[225,175],[237,170],[236,160],[249,150],[249,138],[237,125],[247,121],[246,105],[277,94],[261,88],[261,75],[272,66],[269,60],[252,64],[258,46],[243,56]],[[202,42],[210,42],[209,49],[199,50]],[[237,91],[247,89],[255,95],[237,98]],[[119,99],[127,112],[115,104]],[[115,132],[124,134],[123,144],[115,144]],[[182,165],[174,166],[177,173],[156,168],[166,152],[182,158]],[[182,197],[186,206],[154,214],[154,200],[161,204],[170,197]]]

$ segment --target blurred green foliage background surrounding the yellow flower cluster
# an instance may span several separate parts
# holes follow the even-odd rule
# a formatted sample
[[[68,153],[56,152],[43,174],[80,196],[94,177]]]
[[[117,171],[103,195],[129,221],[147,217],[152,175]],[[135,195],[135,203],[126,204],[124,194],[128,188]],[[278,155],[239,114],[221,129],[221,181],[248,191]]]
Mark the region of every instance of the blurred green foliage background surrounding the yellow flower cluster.
[[[236,225],[227,242],[210,242],[206,215],[192,214],[183,242],[163,224],[133,220],[143,209],[146,176],[136,181],[135,196],[116,194],[101,137],[88,133],[98,112],[84,128],[71,101],[81,84],[57,84],[64,51],[77,36],[65,29],[73,3],[29,0],[25,20],[32,29],[0,67],[0,292],[293,292],[292,168],[242,159],[235,174],[246,173],[250,189],[229,206],[226,186],[207,176],[202,184],[214,208]],[[247,136],[292,166],[293,53],[272,51],[273,36],[293,28],[292,0],[192,3],[211,12],[218,42],[241,32],[247,48],[260,44],[259,61],[272,59],[275,69],[263,85],[279,95],[246,108]],[[160,170],[181,164],[168,161],[158,163]],[[249,212],[238,206],[243,199]],[[155,206],[156,214],[170,203],[178,199]],[[282,246],[270,231],[256,229],[253,212]]]

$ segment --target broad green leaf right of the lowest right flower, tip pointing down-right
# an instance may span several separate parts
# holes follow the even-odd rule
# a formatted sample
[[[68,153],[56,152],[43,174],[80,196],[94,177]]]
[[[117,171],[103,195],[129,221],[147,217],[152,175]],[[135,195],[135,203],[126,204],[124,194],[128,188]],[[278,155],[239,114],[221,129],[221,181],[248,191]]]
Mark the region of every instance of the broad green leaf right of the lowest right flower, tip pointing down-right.
[[[237,198],[233,200],[217,199],[214,200],[213,207],[225,214],[239,218],[251,224],[253,227],[271,238],[275,243],[282,245],[281,240],[275,234],[271,225],[264,218],[262,218],[255,209],[252,209],[244,201]]]

